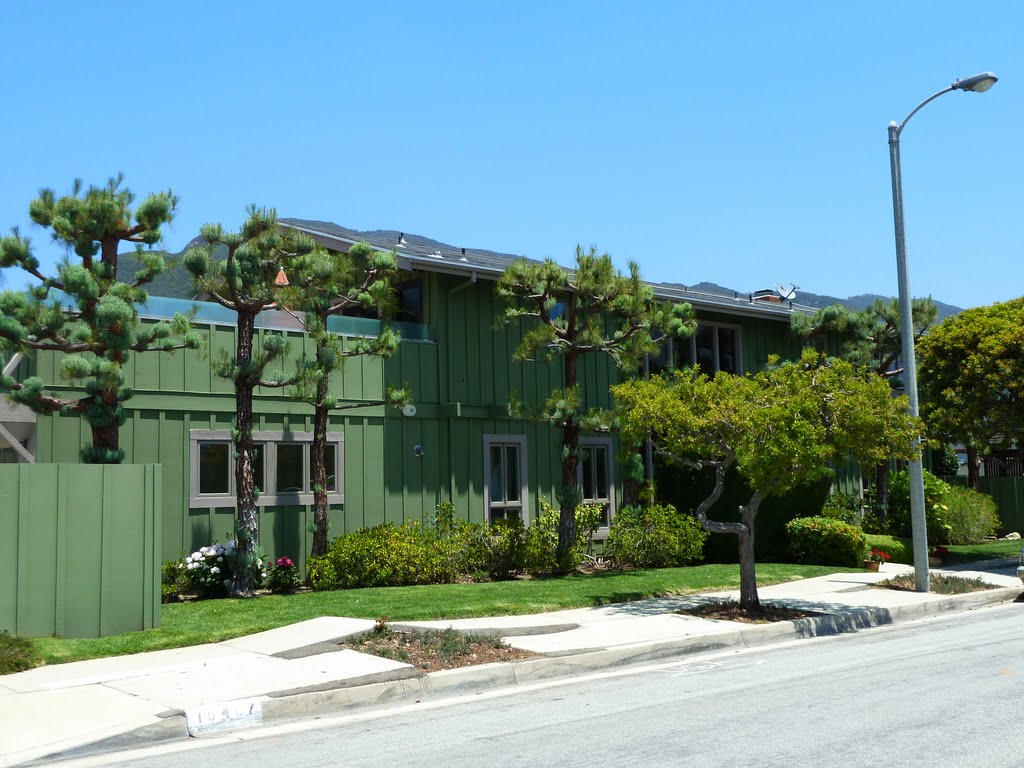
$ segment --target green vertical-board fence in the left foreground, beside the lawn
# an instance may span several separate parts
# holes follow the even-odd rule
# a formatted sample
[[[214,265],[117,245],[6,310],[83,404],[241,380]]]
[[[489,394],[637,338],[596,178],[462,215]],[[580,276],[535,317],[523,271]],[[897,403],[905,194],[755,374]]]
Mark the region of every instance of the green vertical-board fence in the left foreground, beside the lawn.
[[[0,629],[159,627],[161,484],[157,464],[0,466]]]

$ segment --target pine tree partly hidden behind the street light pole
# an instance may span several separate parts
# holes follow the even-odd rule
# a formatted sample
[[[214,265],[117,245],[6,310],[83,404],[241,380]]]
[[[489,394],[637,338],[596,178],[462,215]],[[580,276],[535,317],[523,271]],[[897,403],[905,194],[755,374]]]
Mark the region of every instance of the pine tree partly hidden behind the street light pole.
[[[916,343],[935,325],[939,308],[931,297],[912,299],[910,316]],[[897,367],[902,353],[897,299],[876,299],[874,303],[858,310],[833,304],[811,315],[793,315],[791,326],[793,332],[805,343],[824,334],[838,339],[840,357],[889,379],[894,388],[902,386],[898,377],[902,375],[903,369]],[[883,519],[888,504],[889,462],[883,462],[874,467],[874,511]]]

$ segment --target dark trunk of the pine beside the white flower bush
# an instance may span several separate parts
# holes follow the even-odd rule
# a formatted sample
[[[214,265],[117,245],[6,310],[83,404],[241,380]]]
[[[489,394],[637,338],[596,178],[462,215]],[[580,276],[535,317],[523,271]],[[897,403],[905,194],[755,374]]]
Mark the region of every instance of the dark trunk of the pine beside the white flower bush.
[[[234,357],[234,494],[238,561],[231,583],[232,597],[252,597],[259,547],[256,485],[253,478],[253,390],[256,381],[249,373],[255,321],[255,314],[239,312],[239,339]]]

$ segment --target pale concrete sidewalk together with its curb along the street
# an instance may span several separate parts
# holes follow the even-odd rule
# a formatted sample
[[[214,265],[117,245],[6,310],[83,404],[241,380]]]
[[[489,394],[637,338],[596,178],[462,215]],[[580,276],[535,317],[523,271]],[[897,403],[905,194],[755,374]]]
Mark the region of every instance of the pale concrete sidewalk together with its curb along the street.
[[[1012,600],[1020,581],[1006,567],[956,568],[999,589],[946,597],[870,585],[878,573],[835,573],[759,590],[762,602],[813,609],[814,618],[740,625],[682,615],[724,592],[657,598],[551,613],[411,622],[500,635],[541,654],[423,674],[407,664],[352,650],[339,640],[369,620],[324,616],[211,645],[41,667],[0,677],[0,766],[51,762],[91,752],[141,746],[425,696],[524,685],[685,653],[853,632]],[[1016,562],[1013,563],[1016,565]]]

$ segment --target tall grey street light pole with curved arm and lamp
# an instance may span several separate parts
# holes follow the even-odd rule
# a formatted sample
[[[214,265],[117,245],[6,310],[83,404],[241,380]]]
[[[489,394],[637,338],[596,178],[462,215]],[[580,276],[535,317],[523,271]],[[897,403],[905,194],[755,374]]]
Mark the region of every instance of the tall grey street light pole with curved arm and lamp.
[[[906,230],[903,222],[903,177],[899,159],[899,134],[907,122],[929,101],[943,93],[962,90],[984,93],[997,78],[990,72],[963,78],[934,93],[903,119],[902,123],[889,124],[889,167],[893,182],[893,223],[896,230],[896,274],[899,282],[899,322],[903,347],[903,386],[910,400],[910,415],[918,417],[918,361],[913,351],[913,312],[910,305],[910,274],[906,262]],[[916,456],[910,462],[910,527],[913,534],[914,589],[928,592],[928,524],[925,516],[925,473],[921,464],[921,438],[915,441]]]

